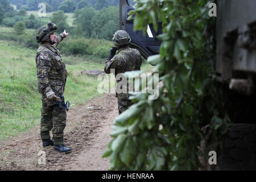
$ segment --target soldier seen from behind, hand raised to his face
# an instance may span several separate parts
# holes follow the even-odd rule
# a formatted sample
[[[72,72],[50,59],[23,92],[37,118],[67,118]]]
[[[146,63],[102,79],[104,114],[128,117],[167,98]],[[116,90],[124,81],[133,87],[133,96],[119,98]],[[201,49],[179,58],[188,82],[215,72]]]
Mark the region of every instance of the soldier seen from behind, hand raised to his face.
[[[119,30],[115,32],[112,40],[115,47],[110,49],[110,56],[106,60],[104,71],[109,74],[110,69],[114,69],[115,78],[118,84],[118,82],[121,81],[117,79],[119,73],[141,70],[142,57],[137,49],[129,47],[131,39],[126,31]],[[118,51],[117,55],[115,55],[116,51]],[[115,97],[118,98],[119,114],[123,113],[123,111],[132,105],[132,102],[129,100],[129,93],[117,92]]]

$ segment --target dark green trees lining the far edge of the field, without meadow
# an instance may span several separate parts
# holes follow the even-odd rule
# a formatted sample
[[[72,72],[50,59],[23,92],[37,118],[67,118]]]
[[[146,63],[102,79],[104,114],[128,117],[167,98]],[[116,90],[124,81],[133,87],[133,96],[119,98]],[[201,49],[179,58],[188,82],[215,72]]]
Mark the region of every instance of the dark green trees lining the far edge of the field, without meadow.
[[[53,1],[53,0],[52,0]],[[86,0],[89,1],[89,0]],[[101,10],[93,7],[83,7],[74,11],[73,25],[67,23],[68,16],[63,10],[56,11],[51,15],[51,22],[55,23],[58,33],[65,30],[71,32],[73,37],[84,37],[94,39],[111,40],[112,35],[119,27],[119,7],[109,6]],[[0,24],[7,27],[14,27],[16,23],[23,22],[26,28],[38,29],[46,24],[37,16],[27,16],[26,10],[15,11],[7,0],[0,0]],[[21,26],[20,27],[24,27]],[[23,31],[19,31],[21,34]]]

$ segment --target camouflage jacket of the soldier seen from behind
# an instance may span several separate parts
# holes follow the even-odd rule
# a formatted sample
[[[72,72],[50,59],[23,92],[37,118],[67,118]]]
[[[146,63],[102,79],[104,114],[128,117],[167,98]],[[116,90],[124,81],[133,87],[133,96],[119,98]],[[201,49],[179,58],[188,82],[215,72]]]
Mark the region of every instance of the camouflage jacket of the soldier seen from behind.
[[[141,53],[137,49],[123,47],[118,49],[117,55],[115,55],[111,60],[106,60],[104,71],[109,74],[110,69],[114,69],[115,78],[118,83],[121,81],[116,77],[119,73],[141,70],[141,64]],[[118,100],[127,100],[129,98],[129,94],[117,93],[116,97]]]

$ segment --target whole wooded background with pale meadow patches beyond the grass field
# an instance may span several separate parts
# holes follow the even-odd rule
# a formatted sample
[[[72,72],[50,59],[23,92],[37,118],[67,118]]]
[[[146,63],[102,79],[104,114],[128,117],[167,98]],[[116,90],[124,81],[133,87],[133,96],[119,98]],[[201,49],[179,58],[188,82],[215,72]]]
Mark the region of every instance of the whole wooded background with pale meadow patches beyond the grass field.
[[[26,28],[38,30],[38,28],[46,25],[48,22],[52,22],[58,27],[57,33],[61,33],[65,29],[71,33],[70,35],[73,38],[84,37],[106,40],[111,40],[112,35],[119,28],[119,6],[111,6],[118,5],[119,1],[43,1],[51,6],[51,8],[48,8],[50,10],[46,10],[47,15],[51,14],[51,16],[42,18],[36,13],[39,10],[37,6],[40,2],[42,0],[11,0],[9,2],[7,0],[0,0],[0,25],[14,27],[16,23],[23,22]],[[59,3],[58,7],[55,7],[56,2]],[[97,6],[97,2],[101,4],[101,7]],[[10,3],[16,6],[16,10],[14,10]],[[68,3],[71,3],[71,5],[68,5]],[[19,4],[22,4],[22,6]],[[60,8],[66,4],[68,7],[74,7],[74,9],[66,11]],[[55,12],[51,13],[51,10]],[[72,17],[72,23],[67,22],[68,15]]]

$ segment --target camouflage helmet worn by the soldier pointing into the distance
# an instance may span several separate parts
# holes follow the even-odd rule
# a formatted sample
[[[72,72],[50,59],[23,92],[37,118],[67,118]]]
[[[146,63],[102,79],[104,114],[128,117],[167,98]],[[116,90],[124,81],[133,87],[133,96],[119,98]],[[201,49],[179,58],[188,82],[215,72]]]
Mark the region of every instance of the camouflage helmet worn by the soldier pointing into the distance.
[[[34,37],[36,42],[44,42],[49,37],[49,35],[51,35],[53,32],[56,32],[57,28],[58,27],[54,23],[48,23],[48,26],[39,28],[38,35],[36,35],[36,38]]]

